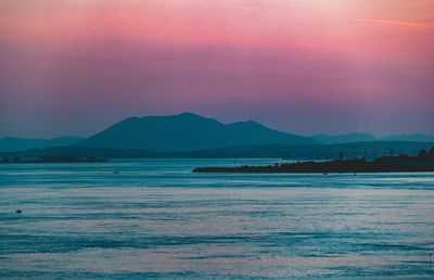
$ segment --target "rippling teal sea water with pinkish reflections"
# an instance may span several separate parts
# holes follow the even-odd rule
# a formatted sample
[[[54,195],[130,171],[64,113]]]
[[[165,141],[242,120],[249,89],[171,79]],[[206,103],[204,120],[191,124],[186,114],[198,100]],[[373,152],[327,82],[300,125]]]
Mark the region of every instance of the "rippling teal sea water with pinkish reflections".
[[[434,279],[434,174],[191,173],[217,165],[0,165],[0,278]]]

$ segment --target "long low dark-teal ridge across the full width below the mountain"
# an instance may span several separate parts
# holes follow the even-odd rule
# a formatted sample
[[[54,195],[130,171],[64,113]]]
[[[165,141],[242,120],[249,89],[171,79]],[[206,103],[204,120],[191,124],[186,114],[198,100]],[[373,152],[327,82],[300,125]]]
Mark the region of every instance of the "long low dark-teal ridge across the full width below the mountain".
[[[40,156],[94,156],[97,158],[299,158],[330,160],[343,153],[344,158],[374,160],[385,155],[407,154],[414,156],[420,150],[429,150],[433,143],[423,142],[358,142],[345,144],[267,144],[206,149],[191,152],[154,152],[140,149],[106,149],[86,147],[58,147],[33,149],[25,152],[0,152],[0,160],[8,157]]]

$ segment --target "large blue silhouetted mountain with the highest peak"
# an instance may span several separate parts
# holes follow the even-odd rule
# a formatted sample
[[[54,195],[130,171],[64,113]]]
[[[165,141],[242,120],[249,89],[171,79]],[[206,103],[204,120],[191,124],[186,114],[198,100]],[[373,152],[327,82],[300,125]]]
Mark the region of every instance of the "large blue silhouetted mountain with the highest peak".
[[[193,151],[254,144],[316,144],[308,137],[272,130],[255,122],[221,124],[192,113],[130,117],[85,141],[80,147]]]

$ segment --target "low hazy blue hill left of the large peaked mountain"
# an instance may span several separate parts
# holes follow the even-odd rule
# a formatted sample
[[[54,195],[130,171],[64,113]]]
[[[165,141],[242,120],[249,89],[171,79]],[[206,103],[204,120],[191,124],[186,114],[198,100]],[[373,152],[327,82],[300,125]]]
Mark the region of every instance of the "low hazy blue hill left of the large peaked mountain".
[[[49,147],[73,145],[85,138],[76,136],[59,137],[53,139],[27,139],[8,137],[0,139],[0,152],[26,151],[29,149],[46,149]]]

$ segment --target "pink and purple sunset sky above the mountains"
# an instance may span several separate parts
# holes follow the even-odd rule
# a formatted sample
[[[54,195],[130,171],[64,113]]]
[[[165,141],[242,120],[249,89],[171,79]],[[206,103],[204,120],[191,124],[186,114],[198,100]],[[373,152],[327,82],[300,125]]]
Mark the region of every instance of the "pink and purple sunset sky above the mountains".
[[[0,137],[194,112],[434,135],[433,0],[1,0]]]

